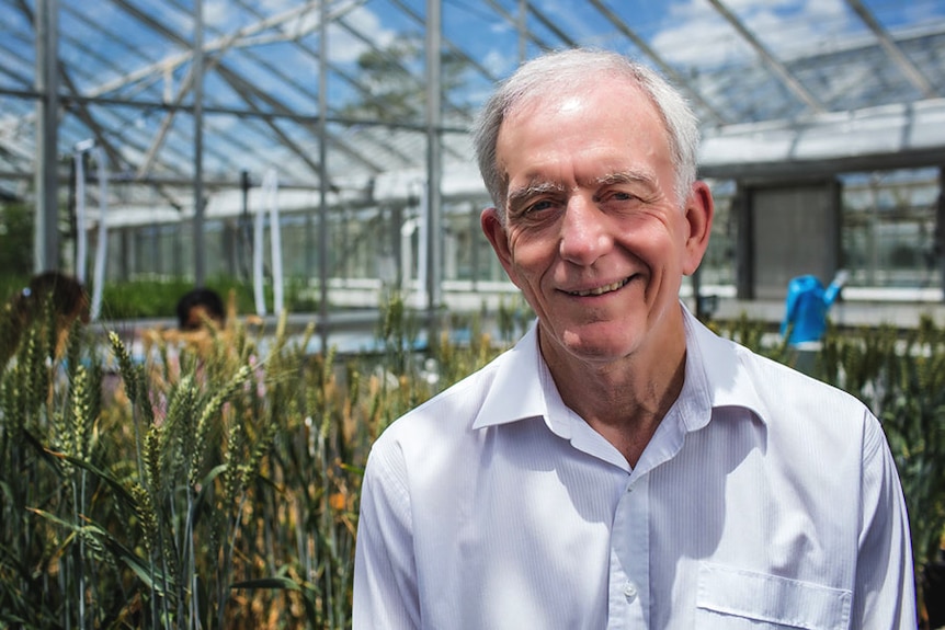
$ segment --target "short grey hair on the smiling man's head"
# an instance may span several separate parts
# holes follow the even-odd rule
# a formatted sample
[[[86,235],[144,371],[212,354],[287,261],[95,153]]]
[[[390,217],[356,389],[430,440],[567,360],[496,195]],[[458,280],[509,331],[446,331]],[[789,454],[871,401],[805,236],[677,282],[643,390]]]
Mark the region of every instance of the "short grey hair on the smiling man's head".
[[[627,57],[604,50],[572,48],[526,61],[489,98],[474,127],[472,146],[479,172],[504,221],[509,182],[499,169],[496,145],[505,117],[520,104],[542,98],[574,94],[602,76],[623,78],[649,96],[667,129],[676,174],[675,195],[682,205],[696,180],[699,131],[695,115],[680,92],[658,72]]]

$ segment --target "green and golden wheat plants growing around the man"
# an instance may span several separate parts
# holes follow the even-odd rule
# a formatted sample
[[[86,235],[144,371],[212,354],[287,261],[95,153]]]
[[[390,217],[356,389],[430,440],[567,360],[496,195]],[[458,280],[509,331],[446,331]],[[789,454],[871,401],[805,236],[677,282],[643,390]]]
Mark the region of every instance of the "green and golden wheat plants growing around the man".
[[[403,301],[376,352],[308,352],[312,328],[238,321],[129,345],[52,319],[0,367],[0,627],[350,628],[361,472],[396,417],[490,360],[531,317],[454,317],[418,351]],[[714,324],[778,360],[759,322]],[[945,330],[831,330],[815,376],[883,420],[916,568],[945,527]]]

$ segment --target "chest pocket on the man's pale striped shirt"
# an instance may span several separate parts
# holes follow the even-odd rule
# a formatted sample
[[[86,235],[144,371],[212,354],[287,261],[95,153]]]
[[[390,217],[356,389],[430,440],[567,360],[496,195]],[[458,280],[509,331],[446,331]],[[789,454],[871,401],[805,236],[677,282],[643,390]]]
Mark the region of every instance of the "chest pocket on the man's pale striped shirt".
[[[845,630],[850,591],[701,562],[696,628]]]

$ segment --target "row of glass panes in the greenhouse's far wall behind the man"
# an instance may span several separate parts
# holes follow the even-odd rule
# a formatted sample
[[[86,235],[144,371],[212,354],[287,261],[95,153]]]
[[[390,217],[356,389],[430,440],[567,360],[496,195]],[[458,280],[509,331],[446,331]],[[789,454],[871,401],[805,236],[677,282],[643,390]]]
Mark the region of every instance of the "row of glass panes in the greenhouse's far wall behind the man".
[[[937,288],[941,270],[935,252],[937,169],[851,173],[842,184],[842,265],[851,272],[851,286],[876,288]],[[709,182],[715,197],[715,220],[702,265],[704,287],[736,284],[737,213],[732,211],[735,183]],[[443,209],[443,270],[445,282],[472,288],[481,282],[505,282],[479,228],[483,199],[446,201]],[[318,209],[281,217],[283,268],[286,278],[319,276]],[[421,206],[414,199],[401,205],[341,207],[328,220],[329,276],[394,284],[415,282],[425,250]],[[252,226],[241,217],[205,221],[207,274],[251,278]],[[265,267],[271,270],[270,226],[263,238]],[[90,233],[94,241],[94,233]],[[94,242],[91,243],[94,248]],[[182,276],[193,268],[190,221],[115,228],[110,236],[109,279],[136,276]]]

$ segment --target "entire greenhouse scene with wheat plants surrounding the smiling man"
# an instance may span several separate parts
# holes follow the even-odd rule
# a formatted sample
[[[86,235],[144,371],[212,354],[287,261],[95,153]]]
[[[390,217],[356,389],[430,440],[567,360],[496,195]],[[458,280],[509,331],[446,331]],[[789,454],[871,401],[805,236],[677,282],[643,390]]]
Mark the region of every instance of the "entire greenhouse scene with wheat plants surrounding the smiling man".
[[[945,0],[0,0],[0,626],[352,627],[372,442],[534,320],[470,129],[577,47],[692,106],[680,298],[884,423],[945,626]],[[82,325],[15,319],[48,271]],[[843,278],[816,352],[799,277]]]

